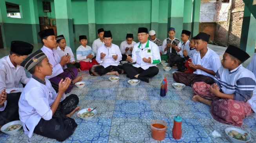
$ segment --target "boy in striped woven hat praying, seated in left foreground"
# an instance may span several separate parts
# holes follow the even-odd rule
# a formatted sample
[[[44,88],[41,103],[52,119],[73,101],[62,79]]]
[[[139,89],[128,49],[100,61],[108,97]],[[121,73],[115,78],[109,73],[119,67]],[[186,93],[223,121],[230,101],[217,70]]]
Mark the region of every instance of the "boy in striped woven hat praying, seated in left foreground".
[[[71,136],[77,124],[70,118],[77,107],[79,98],[71,94],[65,95],[71,79],[61,79],[58,83],[58,93],[45,78],[53,74],[53,67],[48,58],[37,50],[25,58],[22,63],[32,78],[25,86],[19,100],[19,114],[25,134],[29,138],[33,133],[58,141],[64,141]]]

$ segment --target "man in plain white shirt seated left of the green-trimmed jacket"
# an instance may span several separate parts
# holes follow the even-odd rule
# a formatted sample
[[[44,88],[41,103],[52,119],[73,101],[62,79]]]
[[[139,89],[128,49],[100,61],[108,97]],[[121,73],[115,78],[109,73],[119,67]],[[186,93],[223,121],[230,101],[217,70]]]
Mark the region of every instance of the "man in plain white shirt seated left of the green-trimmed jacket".
[[[90,75],[102,76],[102,75],[119,75],[124,73],[122,66],[119,65],[119,61],[122,60],[122,54],[120,48],[111,43],[112,34],[111,31],[104,31],[104,43],[100,46],[96,55],[96,61],[100,66],[93,66],[90,68]]]

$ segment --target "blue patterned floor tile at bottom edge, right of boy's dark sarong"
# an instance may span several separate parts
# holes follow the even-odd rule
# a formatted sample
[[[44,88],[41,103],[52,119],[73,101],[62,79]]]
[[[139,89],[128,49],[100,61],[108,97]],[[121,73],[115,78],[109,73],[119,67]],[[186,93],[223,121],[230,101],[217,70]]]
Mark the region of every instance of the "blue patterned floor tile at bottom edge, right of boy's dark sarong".
[[[80,143],[107,143],[111,126],[109,118],[93,118],[90,121],[77,121],[76,127],[72,136],[64,143],[80,142]]]

